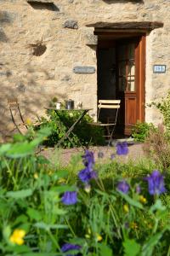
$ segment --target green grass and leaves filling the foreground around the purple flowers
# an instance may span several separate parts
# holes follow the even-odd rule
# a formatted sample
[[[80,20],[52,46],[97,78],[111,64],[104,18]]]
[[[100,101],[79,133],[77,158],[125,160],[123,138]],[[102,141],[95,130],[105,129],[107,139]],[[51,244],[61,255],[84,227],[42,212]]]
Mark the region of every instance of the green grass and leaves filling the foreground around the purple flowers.
[[[15,137],[14,143],[0,147],[1,255],[168,255],[169,171],[167,194],[158,198],[149,195],[144,180],[158,167],[153,161],[98,163],[98,178],[91,181],[87,192],[77,178],[77,172],[84,168],[80,155],[62,167],[34,154],[49,133],[45,128],[31,135],[32,139]],[[127,195],[116,189],[123,179],[129,184]],[[141,193],[136,192],[137,185]],[[61,202],[65,191],[77,191],[77,204],[65,206]],[[23,244],[11,242],[14,230],[26,232]],[[65,242],[81,248],[62,253]]]

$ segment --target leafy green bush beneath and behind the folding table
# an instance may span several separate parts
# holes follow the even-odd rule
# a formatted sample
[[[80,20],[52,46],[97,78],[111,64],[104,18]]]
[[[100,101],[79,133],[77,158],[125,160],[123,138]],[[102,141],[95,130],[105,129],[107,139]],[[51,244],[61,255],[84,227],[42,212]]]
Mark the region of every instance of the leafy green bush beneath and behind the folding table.
[[[82,112],[82,110],[80,110]],[[43,142],[47,146],[54,146],[59,142],[59,139],[65,135],[65,132],[69,130],[71,125],[79,118],[80,113],[77,111],[54,111],[48,110],[48,119],[42,118],[43,124],[42,127],[50,127],[52,133],[46,140]],[[71,148],[73,146],[80,147],[91,145],[103,145],[104,140],[104,131],[102,127],[95,125],[90,125],[93,122],[93,119],[86,114],[81,122],[77,124],[70,134],[71,141],[68,138],[65,138],[63,147]]]

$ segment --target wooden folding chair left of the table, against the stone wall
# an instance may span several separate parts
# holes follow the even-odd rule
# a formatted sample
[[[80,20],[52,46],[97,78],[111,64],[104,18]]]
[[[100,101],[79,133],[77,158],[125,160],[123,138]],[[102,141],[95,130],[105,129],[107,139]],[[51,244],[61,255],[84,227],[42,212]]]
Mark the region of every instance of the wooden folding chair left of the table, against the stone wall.
[[[22,116],[22,113],[20,111],[20,104],[17,98],[8,99],[8,108],[11,115],[11,119],[17,131],[19,131],[20,134],[23,134],[23,135],[26,134],[26,131],[28,130],[28,123],[25,122]],[[38,120],[38,122],[31,125],[38,126],[41,124],[42,123]]]

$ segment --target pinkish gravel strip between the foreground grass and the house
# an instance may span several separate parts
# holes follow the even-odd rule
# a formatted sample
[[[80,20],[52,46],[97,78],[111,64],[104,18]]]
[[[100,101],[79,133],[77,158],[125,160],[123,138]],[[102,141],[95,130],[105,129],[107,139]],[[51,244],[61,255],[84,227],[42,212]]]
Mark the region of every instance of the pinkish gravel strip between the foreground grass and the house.
[[[117,157],[121,161],[128,161],[128,160],[140,160],[144,157],[144,151],[142,148],[142,143],[133,143],[128,146],[129,153],[126,156],[119,156]],[[97,159],[99,157],[99,154],[102,152],[103,157],[100,159],[100,161],[105,162],[107,160],[111,159],[111,154],[115,154],[115,148],[114,147],[90,147],[88,150],[94,152],[94,157]],[[42,151],[42,155],[44,155],[47,158],[53,157],[56,159],[59,157],[62,165],[67,165],[72,155],[77,154],[83,154],[84,150],[82,148],[67,148],[67,149],[54,149],[54,148],[47,148],[46,150]]]

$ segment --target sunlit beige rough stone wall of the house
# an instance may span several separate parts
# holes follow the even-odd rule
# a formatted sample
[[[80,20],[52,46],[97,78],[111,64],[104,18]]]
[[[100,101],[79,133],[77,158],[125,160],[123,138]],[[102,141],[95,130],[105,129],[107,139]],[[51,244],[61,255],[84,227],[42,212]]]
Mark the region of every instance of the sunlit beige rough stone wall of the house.
[[[56,96],[93,108],[90,114],[95,119],[99,86],[95,30],[115,32],[119,23],[133,24],[130,30],[121,27],[127,38],[134,30],[145,33],[144,119],[159,123],[159,113],[147,104],[166,96],[170,86],[169,15],[169,0],[0,0],[0,131],[12,129],[8,98],[13,97],[26,117],[44,113]],[[141,24],[139,29],[135,22]],[[159,26],[150,28],[152,22]],[[166,65],[166,73],[154,73],[154,65]],[[75,72],[81,67],[88,67],[87,73]]]

